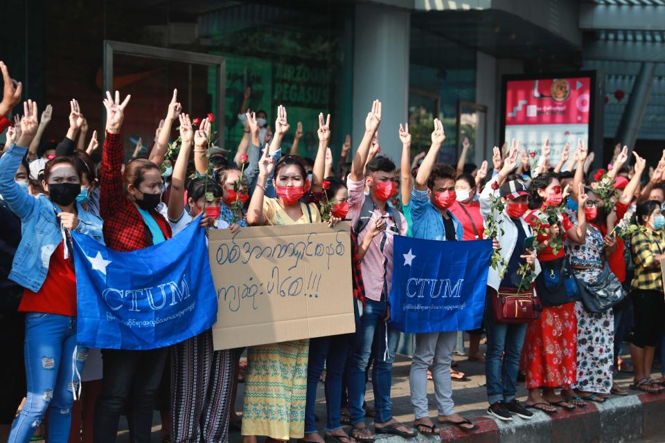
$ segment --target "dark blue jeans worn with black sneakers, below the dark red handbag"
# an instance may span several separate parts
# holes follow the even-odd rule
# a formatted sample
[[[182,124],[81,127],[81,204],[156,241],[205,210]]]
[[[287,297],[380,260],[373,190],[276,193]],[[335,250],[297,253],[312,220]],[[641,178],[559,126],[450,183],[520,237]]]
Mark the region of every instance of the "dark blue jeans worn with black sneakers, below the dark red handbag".
[[[490,300],[490,296],[493,296],[494,293],[494,289],[488,288],[485,306],[487,332],[485,374],[487,399],[490,405],[497,401],[510,403],[515,399],[517,371],[520,369],[520,355],[524,345],[524,336],[526,336],[526,323],[507,325],[496,322]]]

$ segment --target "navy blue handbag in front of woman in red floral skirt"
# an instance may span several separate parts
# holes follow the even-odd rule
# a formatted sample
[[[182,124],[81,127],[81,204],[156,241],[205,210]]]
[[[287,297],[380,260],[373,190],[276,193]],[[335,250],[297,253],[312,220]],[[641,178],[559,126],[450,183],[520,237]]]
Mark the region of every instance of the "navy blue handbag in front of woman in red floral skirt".
[[[580,290],[566,258],[540,262],[535,287],[543,306],[560,306],[580,300]]]

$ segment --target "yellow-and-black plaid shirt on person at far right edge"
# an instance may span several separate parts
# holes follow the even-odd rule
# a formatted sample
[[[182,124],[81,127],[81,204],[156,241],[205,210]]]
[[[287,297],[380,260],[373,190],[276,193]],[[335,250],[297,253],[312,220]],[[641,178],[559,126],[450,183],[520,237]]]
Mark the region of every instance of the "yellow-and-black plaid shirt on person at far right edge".
[[[660,263],[655,256],[665,251],[665,234],[662,230],[637,232],[630,238],[632,260],[635,262],[635,277],[632,289],[663,291]]]

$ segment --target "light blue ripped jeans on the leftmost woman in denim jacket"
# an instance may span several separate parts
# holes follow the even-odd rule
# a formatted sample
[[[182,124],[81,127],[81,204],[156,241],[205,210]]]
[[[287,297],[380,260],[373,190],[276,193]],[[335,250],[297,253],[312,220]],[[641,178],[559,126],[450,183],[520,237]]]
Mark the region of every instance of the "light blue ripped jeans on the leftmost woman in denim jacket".
[[[23,410],[12,424],[8,443],[30,442],[30,437],[44,419],[46,408],[46,440],[49,443],[67,442],[73,394],[78,390],[79,374],[87,355],[87,348],[76,347],[76,317],[40,312],[26,314],[28,394]]]

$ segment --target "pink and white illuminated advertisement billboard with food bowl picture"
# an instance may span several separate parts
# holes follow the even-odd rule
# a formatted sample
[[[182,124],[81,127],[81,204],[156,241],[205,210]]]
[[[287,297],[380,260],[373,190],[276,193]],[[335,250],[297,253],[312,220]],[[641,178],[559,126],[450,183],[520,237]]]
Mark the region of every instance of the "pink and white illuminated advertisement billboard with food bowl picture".
[[[563,147],[572,152],[581,138],[591,145],[594,118],[594,72],[568,75],[504,76],[502,88],[502,134],[504,141],[515,138],[527,152],[540,155],[549,138],[549,163],[558,163]]]

